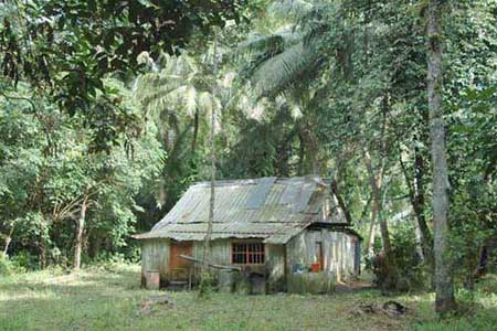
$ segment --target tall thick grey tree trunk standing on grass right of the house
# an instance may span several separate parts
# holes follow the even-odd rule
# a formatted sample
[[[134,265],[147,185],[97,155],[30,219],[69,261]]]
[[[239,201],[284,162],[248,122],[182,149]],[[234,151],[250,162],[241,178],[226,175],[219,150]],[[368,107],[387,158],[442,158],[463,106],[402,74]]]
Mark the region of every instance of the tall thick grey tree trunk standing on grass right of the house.
[[[433,164],[433,222],[435,255],[435,310],[445,314],[455,308],[454,285],[447,258],[448,174],[445,151],[445,129],[442,109],[442,28],[441,1],[429,3],[427,94],[430,138]]]

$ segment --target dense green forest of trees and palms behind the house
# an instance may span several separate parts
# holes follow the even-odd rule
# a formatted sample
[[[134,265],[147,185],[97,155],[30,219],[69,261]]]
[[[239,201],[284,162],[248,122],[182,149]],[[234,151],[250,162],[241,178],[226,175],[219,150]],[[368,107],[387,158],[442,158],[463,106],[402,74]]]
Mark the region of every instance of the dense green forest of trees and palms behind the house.
[[[328,178],[364,263],[392,259],[381,285],[430,287],[427,2],[1,3],[0,264],[136,261],[129,235],[210,179],[213,126],[219,179]],[[497,2],[441,6],[448,260],[470,288],[497,246]]]

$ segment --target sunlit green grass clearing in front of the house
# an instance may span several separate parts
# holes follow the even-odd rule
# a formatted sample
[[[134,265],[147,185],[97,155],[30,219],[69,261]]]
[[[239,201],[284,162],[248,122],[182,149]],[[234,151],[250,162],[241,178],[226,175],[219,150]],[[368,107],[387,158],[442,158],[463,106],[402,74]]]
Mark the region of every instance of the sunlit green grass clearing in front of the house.
[[[144,290],[139,282],[138,266],[118,264],[78,274],[55,269],[1,278],[0,330],[493,330],[497,325],[497,297],[479,290],[475,300],[480,306],[472,314],[440,321],[430,293],[385,298],[377,290],[330,296],[213,292],[199,300],[197,292]],[[169,296],[173,303],[144,313],[142,302],[158,295]],[[409,307],[405,318],[350,313],[361,302],[391,299]]]

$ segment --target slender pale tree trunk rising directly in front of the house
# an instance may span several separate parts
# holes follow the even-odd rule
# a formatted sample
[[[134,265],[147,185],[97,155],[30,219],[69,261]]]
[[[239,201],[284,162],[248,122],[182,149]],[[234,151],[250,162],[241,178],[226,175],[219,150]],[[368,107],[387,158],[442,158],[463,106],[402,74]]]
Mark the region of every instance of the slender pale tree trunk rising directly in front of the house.
[[[218,33],[214,36],[214,68],[213,76],[215,78],[218,74]],[[216,88],[215,84],[212,90],[212,96],[215,98]],[[212,223],[214,222],[214,205],[215,205],[215,103],[212,105],[211,111],[211,135],[210,135],[210,143],[211,143],[211,197],[209,201],[209,221],[208,228],[205,232],[205,238],[203,241],[203,264],[202,264],[202,273],[207,275],[209,273],[209,264],[211,259],[211,236],[212,236]]]

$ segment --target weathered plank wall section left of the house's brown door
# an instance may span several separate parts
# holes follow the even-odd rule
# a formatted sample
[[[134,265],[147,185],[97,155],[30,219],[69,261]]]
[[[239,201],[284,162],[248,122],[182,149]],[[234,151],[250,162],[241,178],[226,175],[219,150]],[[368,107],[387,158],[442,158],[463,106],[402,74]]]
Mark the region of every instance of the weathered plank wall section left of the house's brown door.
[[[141,285],[145,286],[146,271],[159,271],[160,284],[168,279],[169,239],[141,241]]]

